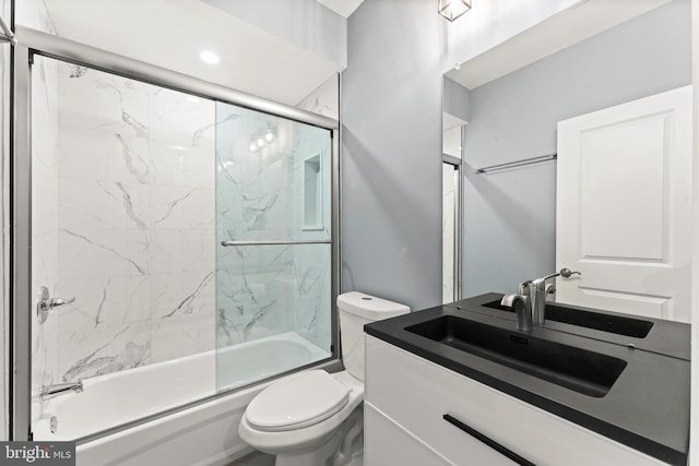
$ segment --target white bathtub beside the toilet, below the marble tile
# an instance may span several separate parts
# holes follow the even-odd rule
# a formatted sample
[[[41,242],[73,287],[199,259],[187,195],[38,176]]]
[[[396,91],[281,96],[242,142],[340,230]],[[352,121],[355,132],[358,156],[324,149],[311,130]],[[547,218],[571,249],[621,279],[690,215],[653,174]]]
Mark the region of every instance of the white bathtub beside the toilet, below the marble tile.
[[[83,381],[84,391],[44,402],[34,440],[80,439],[330,357],[295,333],[240,344]],[[78,445],[78,465],[225,465],[250,449],[238,421],[266,384],[238,390]],[[55,433],[50,418],[58,420]]]

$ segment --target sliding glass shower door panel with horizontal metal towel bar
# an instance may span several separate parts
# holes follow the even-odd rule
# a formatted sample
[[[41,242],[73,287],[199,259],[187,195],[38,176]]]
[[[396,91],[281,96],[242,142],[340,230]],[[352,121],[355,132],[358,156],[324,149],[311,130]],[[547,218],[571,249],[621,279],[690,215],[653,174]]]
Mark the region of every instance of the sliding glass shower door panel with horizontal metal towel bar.
[[[331,357],[331,132],[216,104],[220,391]]]

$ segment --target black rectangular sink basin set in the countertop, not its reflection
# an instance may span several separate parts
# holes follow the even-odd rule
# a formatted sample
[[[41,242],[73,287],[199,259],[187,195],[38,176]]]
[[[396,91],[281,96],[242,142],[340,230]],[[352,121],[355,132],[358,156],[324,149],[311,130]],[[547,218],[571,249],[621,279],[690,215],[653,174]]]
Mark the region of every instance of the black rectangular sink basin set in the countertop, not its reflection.
[[[606,395],[626,367],[618,358],[454,315],[405,330],[595,397]]]

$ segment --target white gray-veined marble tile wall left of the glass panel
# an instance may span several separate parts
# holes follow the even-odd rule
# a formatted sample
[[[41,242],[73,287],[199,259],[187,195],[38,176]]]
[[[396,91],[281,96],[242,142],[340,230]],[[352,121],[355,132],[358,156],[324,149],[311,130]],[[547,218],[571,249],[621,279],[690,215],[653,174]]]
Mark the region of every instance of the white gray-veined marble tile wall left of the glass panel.
[[[37,65],[35,288],[75,302],[35,328],[35,386],[213,349],[214,103]]]

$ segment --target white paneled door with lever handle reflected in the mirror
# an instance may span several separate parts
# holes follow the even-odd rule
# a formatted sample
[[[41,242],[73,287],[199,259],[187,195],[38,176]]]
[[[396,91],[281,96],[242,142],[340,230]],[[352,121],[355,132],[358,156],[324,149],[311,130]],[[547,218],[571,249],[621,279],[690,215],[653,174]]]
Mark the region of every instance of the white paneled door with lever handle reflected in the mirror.
[[[559,302],[689,322],[691,86],[558,123]]]

